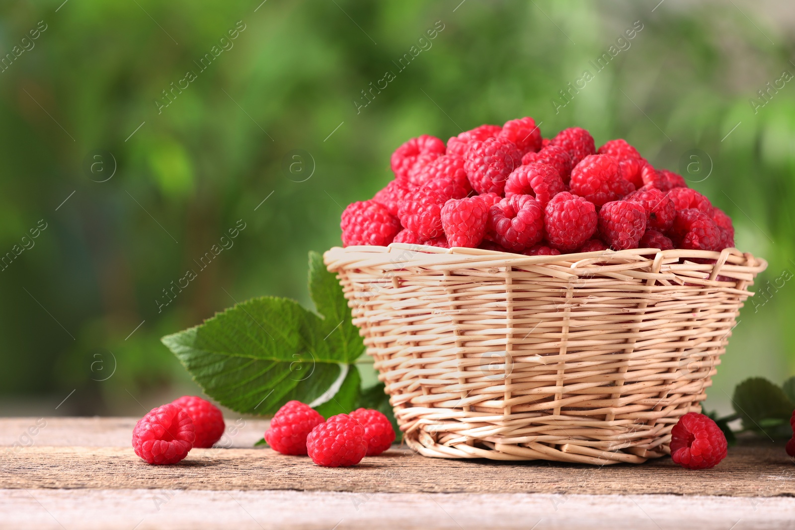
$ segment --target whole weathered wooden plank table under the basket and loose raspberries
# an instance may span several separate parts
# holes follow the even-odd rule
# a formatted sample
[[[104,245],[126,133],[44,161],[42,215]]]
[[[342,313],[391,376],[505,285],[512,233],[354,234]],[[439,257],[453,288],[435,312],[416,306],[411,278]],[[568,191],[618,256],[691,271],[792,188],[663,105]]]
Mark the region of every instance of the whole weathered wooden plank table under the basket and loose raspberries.
[[[252,447],[267,421],[227,419],[226,447],[149,466],[130,447],[136,420],[0,419],[0,528],[795,528],[795,462],[770,440],[702,471],[399,447],[326,469]]]

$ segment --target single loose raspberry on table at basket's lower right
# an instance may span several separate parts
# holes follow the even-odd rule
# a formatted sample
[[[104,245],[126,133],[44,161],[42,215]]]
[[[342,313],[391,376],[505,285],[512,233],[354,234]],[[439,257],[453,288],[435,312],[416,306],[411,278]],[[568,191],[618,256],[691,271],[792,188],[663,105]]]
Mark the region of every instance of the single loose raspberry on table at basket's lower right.
[[[714,467],[726,458],[726,435],[704,414],[688,412],[671,429],[671,458],[690,470]]]

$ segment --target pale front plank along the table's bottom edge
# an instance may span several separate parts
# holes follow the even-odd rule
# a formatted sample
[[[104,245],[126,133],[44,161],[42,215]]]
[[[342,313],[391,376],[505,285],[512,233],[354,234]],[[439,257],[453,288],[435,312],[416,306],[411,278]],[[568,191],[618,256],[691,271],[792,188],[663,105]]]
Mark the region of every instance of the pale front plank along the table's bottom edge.
[[[790,497],[0,489],[0,530],[793,528]]]

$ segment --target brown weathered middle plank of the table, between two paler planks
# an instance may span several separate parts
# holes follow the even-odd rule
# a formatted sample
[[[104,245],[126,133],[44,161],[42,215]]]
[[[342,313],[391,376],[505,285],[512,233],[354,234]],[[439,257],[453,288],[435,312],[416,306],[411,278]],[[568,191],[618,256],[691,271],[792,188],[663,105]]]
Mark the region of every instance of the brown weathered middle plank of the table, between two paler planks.
[[[719,466],[702,471],[684,470],[670,458],[599,467],[425,458],[405,449],[329,469],[266,447],[194,449],[175,466],[150,466],[131,447],[34,446],[2,456],[0,488],[793,496],[795,466],[779,445],[733,447]]]

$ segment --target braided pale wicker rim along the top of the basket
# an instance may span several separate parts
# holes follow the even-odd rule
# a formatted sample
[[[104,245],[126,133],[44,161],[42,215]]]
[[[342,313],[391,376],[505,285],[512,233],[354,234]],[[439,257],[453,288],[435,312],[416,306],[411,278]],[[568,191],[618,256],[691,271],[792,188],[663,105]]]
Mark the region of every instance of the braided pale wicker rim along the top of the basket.
[[[394,256],[399,255],[400,261]],[[384,260],[384,257],[393,257]],[[687,261],[688,258],[715,260],[714,264],[698,265]],[[735,247],[721,251],[673,249],[660,250],[654,248],[630,250],[596,250],[594,252],[566,253],[556,256],[525,256],[524,254],[502,252],[499,250],[472,249],[452,247],[449,249],[438,246],[415,245],[411,243],[390,243],[389,246],[358,245],[334,246],[324,253],[324,261],[329,271],[359,267],[360,261],[368,261],[368,265],[383,269],[401,269],[408,262],[420,261],[422,265],[438,266],[459,265],[456,268],[483,267],[521,267],[524,265],[562,265],[567,269],[588,268],[595,264],[626,264],[648,262],[653,269],[659,270],[661,265],[676,263],[680,260],[692,263],[696,269],[712,269],[710,279],[718,276],[723,265],[733,265],[743,272],[758,274],[767,268],[767,261],[754,257],[750,252],[743,252]],[[420,263],[412,263],[420,265]]]

